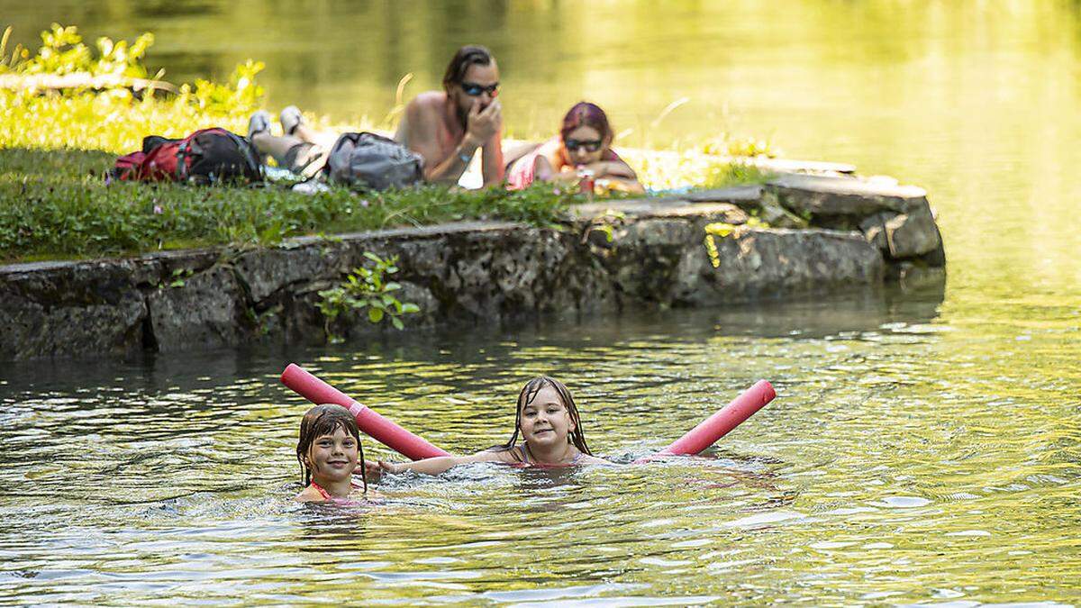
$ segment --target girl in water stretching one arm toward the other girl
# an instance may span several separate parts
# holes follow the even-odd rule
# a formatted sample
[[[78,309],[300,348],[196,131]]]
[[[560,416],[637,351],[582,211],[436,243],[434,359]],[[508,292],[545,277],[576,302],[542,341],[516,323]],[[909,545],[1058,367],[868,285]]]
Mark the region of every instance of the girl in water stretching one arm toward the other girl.
[[[518,445],[519,435],[522,444]],[[470,462],[502,462],[533,466],[611,464],[592,455],[582,432],[574,398],[560,381],[542,375],[525,383],[518,394],[515,432],[510,439],[483,452],[467,457],[437,457],[410,463],[368,464],[371,474],[415,471],[428,475]]]

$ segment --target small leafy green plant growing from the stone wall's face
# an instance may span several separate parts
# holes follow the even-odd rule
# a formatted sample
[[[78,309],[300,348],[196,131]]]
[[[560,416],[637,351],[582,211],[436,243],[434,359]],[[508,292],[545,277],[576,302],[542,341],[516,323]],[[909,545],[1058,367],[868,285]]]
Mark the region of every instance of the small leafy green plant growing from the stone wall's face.
[[[397,255],[384,260],[371,251],[365,251],[364,257],[372,263],[371,267],[353,268],[342,285],[319,292],[320,301],[316,305],[323,314],[323,328],[332,341],[337,338],[331,332],[330,325],[347,310],[366,308],[369,321],[377,323],[389,318],[390,323],[399,330],[405,327],[401,320],[403,315],[421,312],[421,307],[416,304],[399,301],[393,292],[400,290],[401,285],[387,280],[388,275],[398,273]]]

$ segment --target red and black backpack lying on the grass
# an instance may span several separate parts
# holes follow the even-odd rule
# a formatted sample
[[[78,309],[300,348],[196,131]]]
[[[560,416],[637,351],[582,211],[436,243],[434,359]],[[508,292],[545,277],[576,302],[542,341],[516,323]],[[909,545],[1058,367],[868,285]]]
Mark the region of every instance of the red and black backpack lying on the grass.
[[[143,138],[143,150],[117,159],[109,175],[130,182],[252,183],[263,167],[252,144],[225,129],[202,129],[183,140]]]

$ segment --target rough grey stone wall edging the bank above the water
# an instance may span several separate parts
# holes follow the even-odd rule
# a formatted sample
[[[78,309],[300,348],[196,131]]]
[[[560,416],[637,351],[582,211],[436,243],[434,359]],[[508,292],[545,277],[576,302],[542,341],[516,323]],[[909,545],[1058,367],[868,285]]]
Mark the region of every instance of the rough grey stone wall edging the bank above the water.
[[[713,238],[713,259],[704,244],[711,223],[734,227]],[[583,204],[558,229],[455,223],[268,249],[0,266],[0,359],[321,343],[318,292],[364,264],[365,251],[399,257],[398,298],[422,310],[404,318],[412,327],[776,299],[945,264],[922,190],[785,175],[764,186]],[[330,329],[387,331],[350,315]]]

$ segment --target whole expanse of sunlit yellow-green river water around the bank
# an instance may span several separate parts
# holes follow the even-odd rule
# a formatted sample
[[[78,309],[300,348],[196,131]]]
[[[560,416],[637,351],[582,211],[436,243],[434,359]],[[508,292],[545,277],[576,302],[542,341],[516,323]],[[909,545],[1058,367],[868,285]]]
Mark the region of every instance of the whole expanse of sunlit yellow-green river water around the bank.
[[[663,8],[662,8],[663,6]],[[0,371],[0,603],[1081,602],[1077,2],[0,0],[29,40],[152,30],[177,80],[267,62],[276,108],[379,118],[466,41],[509,130],[580,97],[624,141],[768,136],[924,186],[944,286],[551,318],[385,342]],[[669,103],[688,97],[652,124]],[[564,380],[600,454],[665,446],[756,380],[705,458],[400,477],[297,506],[296,361],[451,451]],[[369,457],[389,455],[365,441]]]

